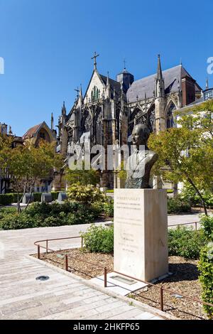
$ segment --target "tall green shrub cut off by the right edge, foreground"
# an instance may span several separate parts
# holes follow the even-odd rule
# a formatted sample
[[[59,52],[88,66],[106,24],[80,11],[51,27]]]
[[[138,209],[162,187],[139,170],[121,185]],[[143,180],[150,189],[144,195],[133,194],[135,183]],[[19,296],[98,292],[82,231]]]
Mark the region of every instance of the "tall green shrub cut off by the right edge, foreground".
[[[202,285],[202,300],[213,304],[213,242],[209,242],[200,253],[198,265],[200,283]],[[204,311],[209,319],[213,320],[213,306],[204,305]]]

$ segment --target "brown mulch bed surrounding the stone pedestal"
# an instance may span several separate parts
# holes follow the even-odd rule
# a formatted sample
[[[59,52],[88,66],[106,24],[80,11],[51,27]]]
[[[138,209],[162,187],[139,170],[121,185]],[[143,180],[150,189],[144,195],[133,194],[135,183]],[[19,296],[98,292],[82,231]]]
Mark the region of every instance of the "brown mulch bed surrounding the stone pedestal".
[[[113,271],[113,254],[90,253],[80,248],[41,254],[41,259],[65,269],[65,254],[69,256],[69,271],[84,279],[103,275],[104,267],[107,267],[108,272]],[[181,298],[182,293],[185,296],[201,300],[197,261],[182,257],[169,257],[169,271],[173,274],[163,281],[155,283],[155,286],[163,285],[165,289],[171,291],[171,293],[163,292],[164,311],[181,319],[207,319],[202,304]],[[130,293],[129,297],[149,306],[160,308],[160,290],[155,286],[147,286],[136,293]],[[176,295],[173,291],[178,294]]]

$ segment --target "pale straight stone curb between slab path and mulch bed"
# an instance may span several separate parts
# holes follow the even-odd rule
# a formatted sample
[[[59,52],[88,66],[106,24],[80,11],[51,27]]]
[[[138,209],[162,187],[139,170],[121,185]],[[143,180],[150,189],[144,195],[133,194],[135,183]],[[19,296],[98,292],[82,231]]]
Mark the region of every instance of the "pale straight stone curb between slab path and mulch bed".
[[[44,266],[48,266],[49,268],[60,272],[60,274],[70,276],[72,279],[75,279],[76,281],[81,282],[82,284],[89,286],[90,288],[93,288],[95,290],[101,291],[102,293],[107,294],[108,296],[115,297],[119,299],[120,301],[124,301],[125,303],[131,303],[132,306],[136,306],[137,308],[140,308],[142,311],[153,313],[154,316],[160,316],[161,318],[164,318],[165,320],[180,320],[179,318],[176,318],[175,316],[170,315],[169,313],[165,313],[163,311],[158,310],[157,308],[154,308],[153,306],[148,306],[145,303],[141,303],[140,301],[135,301],[133,298],[129,298],[126,296],[121,296],[118,293],[114,293],[112,291],[102,288],[102,286],[98,286],[97,284],[93,284],[87,279],[83,279],[80,276],[77,276],[75,274],[72,274],[68,271],[65,271],[64,269],[59,268],[58,266],[54,266],[53,264],[50,264],[48,262],[45,262],[40,259],[36,259],[35,257],[32,257],[31,255],[25,255],[27,259],[31,259],[32,261],[38,262],[40,264],[43,264]]]

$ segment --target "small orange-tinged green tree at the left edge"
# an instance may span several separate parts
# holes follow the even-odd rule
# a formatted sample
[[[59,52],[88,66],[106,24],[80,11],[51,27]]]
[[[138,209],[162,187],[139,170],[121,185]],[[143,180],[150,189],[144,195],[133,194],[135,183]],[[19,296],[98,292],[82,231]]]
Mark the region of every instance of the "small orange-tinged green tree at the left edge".
[[[3,144],[2,144],[3,146]],[[21,198],[26,192],[32,195],[36,183],[53,173],[53,167],[62,166],[62,156],[55,153],[55,144],[40,141],[38,147],[26,143],[12,149],[4,144],[4,161],[1,166],[9,173],[18,198],[18,212],[21,212]],[[21,196],[20,193],[23,193]]]

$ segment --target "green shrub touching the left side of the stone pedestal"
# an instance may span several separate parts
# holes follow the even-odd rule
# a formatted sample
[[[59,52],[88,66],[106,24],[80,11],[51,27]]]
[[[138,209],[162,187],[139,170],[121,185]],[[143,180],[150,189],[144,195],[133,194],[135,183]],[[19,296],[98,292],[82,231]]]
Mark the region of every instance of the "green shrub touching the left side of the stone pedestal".
[[[92,225],[82,234],[84,246],[89,252],[112,253],[114,250],[114,228]]]

